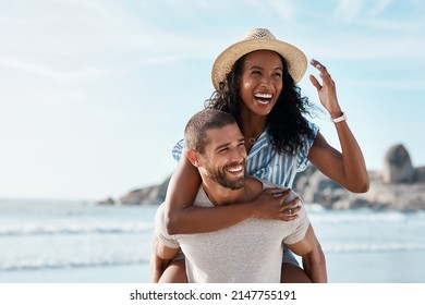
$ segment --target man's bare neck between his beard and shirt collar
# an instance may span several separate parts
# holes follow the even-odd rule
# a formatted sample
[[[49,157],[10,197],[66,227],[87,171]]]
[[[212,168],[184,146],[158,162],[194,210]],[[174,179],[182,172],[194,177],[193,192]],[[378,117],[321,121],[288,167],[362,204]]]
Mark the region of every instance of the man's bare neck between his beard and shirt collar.
[[[255,178],[246,176],[245,185],[239,190],[223,187],[210,180],[203,180],[202,187],[215,206],[224,206],[254,199],[263,191],[263,183]]]

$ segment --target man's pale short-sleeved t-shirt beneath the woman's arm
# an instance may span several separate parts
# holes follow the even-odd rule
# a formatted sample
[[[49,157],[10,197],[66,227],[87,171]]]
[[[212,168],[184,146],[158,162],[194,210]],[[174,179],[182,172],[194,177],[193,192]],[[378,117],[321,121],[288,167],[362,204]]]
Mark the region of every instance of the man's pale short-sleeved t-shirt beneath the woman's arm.
[[[276,187],[262,182],[264,188]],[[194,206],[215,207],[202,187]],[[162,204],[156,213],[155,234],[166,246],[181,247],[190,283],[278,283],[282,243],[300,242],[309,224],[304,206],[299,215],[293,221],[251,218],[214,232],[169,235]]]

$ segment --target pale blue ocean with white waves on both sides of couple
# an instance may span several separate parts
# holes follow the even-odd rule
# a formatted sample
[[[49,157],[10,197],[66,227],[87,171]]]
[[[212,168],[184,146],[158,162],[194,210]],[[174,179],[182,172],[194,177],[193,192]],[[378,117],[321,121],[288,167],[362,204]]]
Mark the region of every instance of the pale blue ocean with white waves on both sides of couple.
[[[157,206],[0,199],[0,283],[147,283]],[[425,212],[307,205],[331,283],[425,283]]]

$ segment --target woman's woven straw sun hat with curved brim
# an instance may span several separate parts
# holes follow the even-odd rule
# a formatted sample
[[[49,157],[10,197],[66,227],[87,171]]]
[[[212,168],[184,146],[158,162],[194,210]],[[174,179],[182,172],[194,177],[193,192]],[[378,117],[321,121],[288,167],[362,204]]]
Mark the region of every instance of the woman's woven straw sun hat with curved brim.
[[[217,89],[224,82],[238,59],[253,51],[270,50],[281,54],[288,64],[288,71],[295,84],[301,81],[307,69],[307,58],[299,48],[276,39],[266,28],[250,30],[239,42],[222,51],[212,65],[212,85]]]

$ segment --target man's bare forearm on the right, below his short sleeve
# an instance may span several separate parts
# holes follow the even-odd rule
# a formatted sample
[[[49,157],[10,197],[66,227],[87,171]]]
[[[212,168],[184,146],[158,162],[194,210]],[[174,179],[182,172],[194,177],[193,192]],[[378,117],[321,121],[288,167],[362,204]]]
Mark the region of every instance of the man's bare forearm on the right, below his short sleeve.
[[[314,283],[328,281],[325,255],[312,224],[308,224],[305,236],[300,242],[289,244],[288,247],[303,258],[304,270]]]

